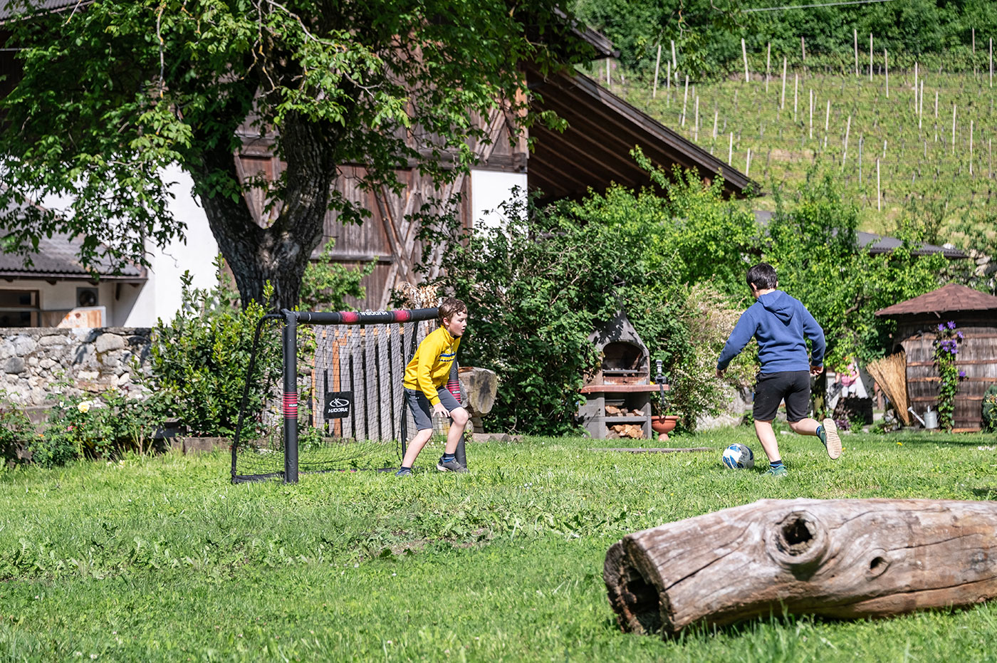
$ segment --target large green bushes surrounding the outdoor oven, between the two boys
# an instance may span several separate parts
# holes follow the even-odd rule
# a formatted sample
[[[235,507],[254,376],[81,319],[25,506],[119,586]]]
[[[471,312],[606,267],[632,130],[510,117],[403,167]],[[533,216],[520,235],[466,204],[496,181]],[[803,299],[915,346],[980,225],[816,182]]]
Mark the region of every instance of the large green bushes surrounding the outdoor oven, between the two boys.
[[[754,218],[722,198],[719,179],[668,176],[634,157],[662,195],[613,186],[547,207],[512,203],[503,227],[474,234],[455,214],[424,219],[426,246],[444,246],[439,282],[471,314],[461,362],[498,374],[486,427],[575,430],[582,375],[598,360],[587,337],[621,306],[675,381],[671,407],[686,428],[722,403],[713,370],[730,329],[716,313],[737,305],[727,292],[743,280]]]

